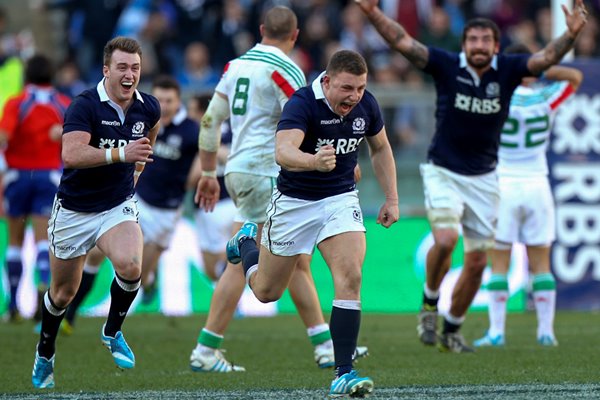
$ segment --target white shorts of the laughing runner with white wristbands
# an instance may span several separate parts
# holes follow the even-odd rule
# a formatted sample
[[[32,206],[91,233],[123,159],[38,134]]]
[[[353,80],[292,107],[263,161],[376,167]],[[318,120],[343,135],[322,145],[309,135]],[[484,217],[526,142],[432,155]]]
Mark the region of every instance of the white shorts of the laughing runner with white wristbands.
[[[62,260],[87,254],[112,227],[125,221],[138,222],[136,203],[129,199],[110,210],[86,213],[67,210],[55,197],[48,221],[50,251]]]

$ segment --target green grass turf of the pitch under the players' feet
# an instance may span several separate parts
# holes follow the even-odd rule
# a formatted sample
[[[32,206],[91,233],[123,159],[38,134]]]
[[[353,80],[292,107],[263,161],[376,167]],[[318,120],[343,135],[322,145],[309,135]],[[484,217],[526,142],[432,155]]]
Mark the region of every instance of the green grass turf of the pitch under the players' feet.
[[[56,389],[44,398],[322,398],[331,370],[316,367],[312,347],[294,315],[235,320],[224,347],[245,373],[207,374],[189,369],[205,316],[133,315],[124,333],[136,367],[120,372],[100,345],[103,319],[80,318],[75,333],[60,336]],[[560,346],[535,341],[535,315],[510,314],[507,345],[475,354],[442,354],[416,338],[415,315],[363,315],[360,344],[370,356],[357,363],[376,385],[376,398],[594,398],[600,396],[600,315],[560,312]],[[487,315],[469,315],[467,340],[478,338]],[[0,324],[0,397],[37,398],[31,367],[33,323]],[[573,397],[571,397],[573,396]]]

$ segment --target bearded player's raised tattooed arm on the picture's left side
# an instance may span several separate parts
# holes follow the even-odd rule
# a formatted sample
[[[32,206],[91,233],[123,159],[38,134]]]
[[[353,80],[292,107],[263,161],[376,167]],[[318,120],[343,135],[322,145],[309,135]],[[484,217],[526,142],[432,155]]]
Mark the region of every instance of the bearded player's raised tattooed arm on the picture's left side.
[[[377,7],[377,0],[355,2],[391,48],[402,53],[417,68],[425,68],[429,61],[429,50],[425,45],[410,36],[402,25],[385,15]]]

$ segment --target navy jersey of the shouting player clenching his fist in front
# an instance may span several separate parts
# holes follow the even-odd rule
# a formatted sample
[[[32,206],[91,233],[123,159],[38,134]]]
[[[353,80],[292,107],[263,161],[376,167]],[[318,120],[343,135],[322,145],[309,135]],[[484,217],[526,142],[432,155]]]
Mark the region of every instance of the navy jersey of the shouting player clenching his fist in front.
[[[350,114],[340,117],[334,113],[325,100],[322,76],[311,86],[300,88],[292,95],[283,108],[277,131],[303,131],[300,150],[305,153],[316,154],[322,146],[332,145],[336,165],[330,172],[292,172],[282,168],[277,177],[277,188],[286,196],[320,200],[354,190],[358,146],[365,136],[375,136],[383,129],[381,110],[368,91]]]

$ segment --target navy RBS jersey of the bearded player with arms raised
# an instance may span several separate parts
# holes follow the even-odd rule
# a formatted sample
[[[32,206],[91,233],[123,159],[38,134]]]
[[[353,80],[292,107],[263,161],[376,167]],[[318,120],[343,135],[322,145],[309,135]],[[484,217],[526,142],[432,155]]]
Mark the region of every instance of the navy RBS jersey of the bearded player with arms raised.
[[[464,53],[429,48],[424,71],[437,91],[435,135],[428,158],[463,175],[480,175],[496,168],[498,146],[510,99],[525,76],[529,55],[494,57],[481,79],[467,66]]]

